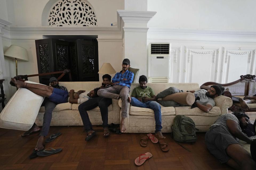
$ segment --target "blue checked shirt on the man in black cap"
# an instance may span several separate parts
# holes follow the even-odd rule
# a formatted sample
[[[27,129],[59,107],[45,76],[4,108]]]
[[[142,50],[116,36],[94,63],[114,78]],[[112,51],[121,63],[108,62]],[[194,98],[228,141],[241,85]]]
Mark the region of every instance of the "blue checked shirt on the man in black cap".
[[[122,71],[118,72],[115,74],[115,76],[112,78],[112,82],[117,83],[118,85],[121,86],[127,86],[127,87],[131,87],[131,83],[133,82],[133,72],[126,70],[124,74],[122,74]],[[123,81],[123,79],[127,79],[125,81]]]

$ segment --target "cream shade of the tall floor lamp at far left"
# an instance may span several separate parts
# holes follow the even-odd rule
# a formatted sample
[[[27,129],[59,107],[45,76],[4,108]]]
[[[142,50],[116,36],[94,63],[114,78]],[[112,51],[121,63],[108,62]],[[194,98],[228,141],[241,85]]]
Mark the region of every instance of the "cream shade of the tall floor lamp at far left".
[[[17,46],[17,45],[11,45],[5,52],[5,57],[10,57],[13,59],[17,59],[20,61],[29,61],[29,58],[27,56],[27,50],[23,47]]]

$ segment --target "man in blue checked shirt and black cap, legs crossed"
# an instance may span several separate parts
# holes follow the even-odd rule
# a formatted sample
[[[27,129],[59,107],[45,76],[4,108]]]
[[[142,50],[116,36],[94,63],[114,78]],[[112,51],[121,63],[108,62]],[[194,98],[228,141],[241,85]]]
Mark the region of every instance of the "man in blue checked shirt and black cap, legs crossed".
[[[112,82],[108,83],[113,86],[108,88],[103,88],[98,90],[98,96],[111,98],[111,99],[122,99],[122,108],[121,108],[121,122],[120,122],[120,130],[121,132],[125,132],[125,118],[127,115],[127,107],[128,103],[131,102],[131,98],[128,97],[131,83],[133,82],[133,72],[128,71],[130,67],[130,60],[125,58],[122,62],[122,71],[115,74],[112,78]],[[106,84],[107,86],[107,84]]]

